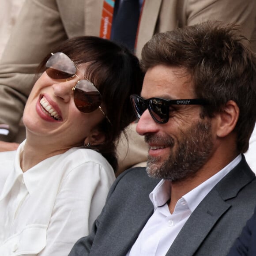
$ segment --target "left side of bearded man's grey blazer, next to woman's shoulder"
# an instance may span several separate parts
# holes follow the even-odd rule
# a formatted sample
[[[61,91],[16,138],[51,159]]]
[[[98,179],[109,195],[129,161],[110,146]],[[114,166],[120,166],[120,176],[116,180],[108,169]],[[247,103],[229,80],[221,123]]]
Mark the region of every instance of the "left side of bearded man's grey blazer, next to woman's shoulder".
[[[145,181],[144,184],[141,184],[142,180]],[[97,255],[97,253],[104,255],[101,254],[100,247],[103,250],[108,248],[105,255],[125,255],[154,211],[149,194],[159,181],[149,178],[144,167],[131,168],[121,173],[110,188],[105,207],[94,222],[90,234],[79,239],[68,256]],[[127,200],[130,196],[136,197],[136,201]],[[125,215],[124,211],[126,211]],[[127,216],[129,216],[128,221],[126,221]],[[113,229],[119,231],[109,233]],[[120,237],[120,233],[125,234],[124,237]],[[101,237],[104,237],[103,243]],[[109,247],[112,244],[113,251]],[[94,252],[91,251],[92,245]],[[119,246],[120,254],[116,254],[116,247]]]

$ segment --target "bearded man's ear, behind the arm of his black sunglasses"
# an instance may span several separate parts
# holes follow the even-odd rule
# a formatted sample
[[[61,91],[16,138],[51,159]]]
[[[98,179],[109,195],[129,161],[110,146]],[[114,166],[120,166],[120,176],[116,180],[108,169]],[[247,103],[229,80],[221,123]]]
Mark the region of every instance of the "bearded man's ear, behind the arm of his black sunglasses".
[[[218,113],[217,136],[225,137],[229,135],[237,124],[239,108],[234,101],[226,102],[222,112]]]

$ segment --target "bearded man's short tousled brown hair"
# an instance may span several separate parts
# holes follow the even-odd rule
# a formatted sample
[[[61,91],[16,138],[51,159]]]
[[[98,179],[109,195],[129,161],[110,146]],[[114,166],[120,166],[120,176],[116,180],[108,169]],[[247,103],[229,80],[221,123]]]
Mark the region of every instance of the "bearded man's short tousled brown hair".
[[[210,103],[202,117],[237,103],[237,150],[248,149],[256,121],[256,55],[234,24],[207,21],[156,34],[142,50],[144,71],[158,64],[183,67],[191,75],[197,98]]]

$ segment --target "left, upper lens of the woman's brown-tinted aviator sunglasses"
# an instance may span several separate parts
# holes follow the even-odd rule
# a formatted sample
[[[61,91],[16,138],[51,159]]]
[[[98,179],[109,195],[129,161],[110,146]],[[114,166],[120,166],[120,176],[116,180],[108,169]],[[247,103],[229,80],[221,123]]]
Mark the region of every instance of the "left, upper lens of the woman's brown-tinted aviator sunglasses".
[[[46,74],[53,79],[68,79],[75,75],[76,67],[64,53],[54,53],[45,64]]]

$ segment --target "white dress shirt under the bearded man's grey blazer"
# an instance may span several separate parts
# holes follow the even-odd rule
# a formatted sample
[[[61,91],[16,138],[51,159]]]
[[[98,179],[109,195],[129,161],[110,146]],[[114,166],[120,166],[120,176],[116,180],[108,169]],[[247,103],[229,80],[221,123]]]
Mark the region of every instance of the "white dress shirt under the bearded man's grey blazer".
[[[170,213],[166,203],[171,194],[170,181],[160,181],[150,193],[150,200],[154,205],[154,213],[140,232],[127,256],[166,255],[178,233],[203,198],[240,161],[241,155],[238,155],[237,158],[214,176],[182,196],[178,200],[173,214]]]

